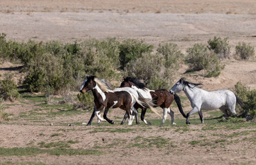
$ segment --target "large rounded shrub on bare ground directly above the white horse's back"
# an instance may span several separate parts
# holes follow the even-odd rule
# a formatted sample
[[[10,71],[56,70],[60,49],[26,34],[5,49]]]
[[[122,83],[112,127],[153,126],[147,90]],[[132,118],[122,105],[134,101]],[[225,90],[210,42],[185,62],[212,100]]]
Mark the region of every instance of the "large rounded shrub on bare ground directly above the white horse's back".
[[[193,47],[188,48],[186,52],[188,55],[185,61],[194,71],[204,69],[207,73],[206,76],[211,77],[220,75],[220,70],[224,68],[220,64],[217,55],[205,45],[195,44]]]

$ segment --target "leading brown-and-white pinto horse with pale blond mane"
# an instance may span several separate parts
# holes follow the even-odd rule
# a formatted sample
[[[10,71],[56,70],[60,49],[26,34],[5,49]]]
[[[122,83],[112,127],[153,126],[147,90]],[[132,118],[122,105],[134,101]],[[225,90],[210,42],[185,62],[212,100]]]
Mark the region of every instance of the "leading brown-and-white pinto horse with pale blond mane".
[[[142,101],[138,100],[138,93],[135,90],[129,87],[122,90],[116,89],[116,91],[110,90],[107,88],[107,85],[105,85],[103,81],[100,81],[98,78],[96,78],[96,76],[87,76],[80,89],[81,93],[83,94],[90,90],[92,90],[94,95],[94,115],[97,115],[100,121],[104,121],[105,119],[107,122],[114,124],[113,120],[109,120],[109,118],[107,118],[107,112],[109,111],[109,108],[120,107],[120,109],[126,111],[127,117],[129,118],[128,125],[131,125],[132,121],[134,120],[134,116],[131,116],[131,113],[136,113],[134,104],[137,102],[143,106]],[[145,104],[152,104],[147,102],[147,99],[140,99],[142,99],[143,103],[145,102]],[[103,115],[104,119],[99,115],[99,112],[103,109],[105,110]],[[92,115],[88,124],[91,124],[94,115]]]

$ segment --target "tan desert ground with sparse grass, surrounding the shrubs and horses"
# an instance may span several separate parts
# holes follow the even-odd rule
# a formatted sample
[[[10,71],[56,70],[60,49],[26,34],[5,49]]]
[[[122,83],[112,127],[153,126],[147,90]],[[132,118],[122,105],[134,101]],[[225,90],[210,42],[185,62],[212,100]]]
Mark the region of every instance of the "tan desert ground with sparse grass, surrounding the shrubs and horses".
[[[195,43],[220,36],[228,38],[233,55],[238,42],[250,43],[256,50],[256,1],[1,0],[0,33],[15,41],[116,37],[153,45],[171,42],[184,54]],[[256,89],[255,60],[231,58],[223,63],[217,78],[184,74],[188,68],[182,65],[175,79],[186,77],[209,91],[232,90],[238,81]],[[22,76],[19,69],[10,69],[17,66],[3,62],[0,74]],[[179,96],[189,112],[189,101],[183,92]],[[70,104],[45,104],[45,100],[42,94],[23,94],[21,100],[5,102],[5,112],[11,115],[9,121],[0,122],[0,164],[256,164],[255,122],[220,122],[220,110],[203,111],[204,124],[195,114],[186,125],[173,103],[177,125],[171,125],[168,116],[160,126],[161,119],[147,112],[151,126],[143,122],[121,126],[124,111],[113,109],[108,116],[116,124],[98,125],[94,119],[92,126],[85,126],[92,109],[70,112]],[[8,154],[14,148],[17,153]]]

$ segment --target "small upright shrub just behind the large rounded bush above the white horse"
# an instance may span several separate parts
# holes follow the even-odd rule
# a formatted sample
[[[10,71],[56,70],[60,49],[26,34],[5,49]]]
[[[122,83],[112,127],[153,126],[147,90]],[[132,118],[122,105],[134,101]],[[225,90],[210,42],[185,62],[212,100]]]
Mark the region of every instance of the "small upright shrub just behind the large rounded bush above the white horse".
[[[209,49],[213,50],[219,59],[228,58],[230,56],[231,47],[228,44],[228,39],[222,40],[220,37],[214,36],[214,39],[208,41]]]

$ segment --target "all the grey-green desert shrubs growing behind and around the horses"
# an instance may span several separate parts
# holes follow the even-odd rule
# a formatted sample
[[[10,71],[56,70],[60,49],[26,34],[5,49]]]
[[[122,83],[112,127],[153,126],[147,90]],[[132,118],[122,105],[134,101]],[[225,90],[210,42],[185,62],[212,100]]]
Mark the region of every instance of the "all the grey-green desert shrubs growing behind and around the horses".
[[[50,102],[52,94],[63,94],[65,91],[78,91],[85,74],[96,75],[111,81],[119,81],[122,76],[134,76],[142,80],[150,89],[169,88],[173,83],[173,75],[181,64],[189,65],[189,71],[204,70],[202,76],[219,76],[224,58],[231,58],[228,39],[214,37],[209,45],[195,44],[188,47],[186,54],[174,43],[159,43],[158,47],[143,40],[126,39],[118,41],[109,38],[102,41],[88,39],[61,43],[50,41],[7,41],[6,34],[0,36],[1,61],[21,63],[21,72],[25,75],[19,80],[20,88],[30,92],[42,92]],[[241,59],[253,56],[250,45],[238,43],[236,54]],[[15,100],[20,97],[12,75],[5,75],[1,80],[1,98]],[[114,87],[118,87],[118,83]],[[250,115],[254,116],[254,105],[248,100],[255,99],[254,91],[246,91],[246,87],[236,86],[237,95],[246,102]],[[241,92],[243,90],[244,92]],[[246,91],[246,92],[245,92]],[[89,94],[78,94],[75,109],[83,107],[92,109],[92,97]],[[250,98],[250,99],[248,99]],[[250,104],[250,105],[249,105]],[[246,110],[242,114],[247,113]],[[244,115],[242,115],[244,116]]]

